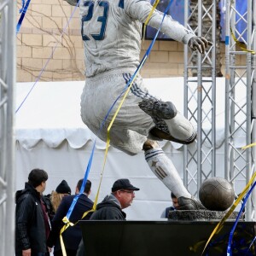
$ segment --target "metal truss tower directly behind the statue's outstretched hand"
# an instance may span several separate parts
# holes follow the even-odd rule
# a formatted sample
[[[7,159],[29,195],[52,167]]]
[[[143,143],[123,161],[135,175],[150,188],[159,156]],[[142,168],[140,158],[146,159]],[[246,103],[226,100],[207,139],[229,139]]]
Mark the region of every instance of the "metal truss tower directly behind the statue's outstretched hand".
[[[204,55],[184,48],[184,115],[197,127],[197,139],[195,147],[184,148],[183,177],[193,195],[204,179],[216,176],[216,5],[217,1],[185,1],[185,26],[212,42]]]

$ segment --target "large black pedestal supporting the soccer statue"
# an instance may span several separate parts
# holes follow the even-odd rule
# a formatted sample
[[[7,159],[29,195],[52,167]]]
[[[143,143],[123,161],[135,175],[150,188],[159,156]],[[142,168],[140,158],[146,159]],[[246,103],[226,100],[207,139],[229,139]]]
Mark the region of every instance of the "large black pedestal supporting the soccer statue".
[[[218,221],[80,221],[86,256],[201,255]],[[207,256],[227,255],[234,221],[212,237]],[[232,243],[232,256],[256,255],[255,222],[240,221]],[[253,241],[253,244],[252,244]]]

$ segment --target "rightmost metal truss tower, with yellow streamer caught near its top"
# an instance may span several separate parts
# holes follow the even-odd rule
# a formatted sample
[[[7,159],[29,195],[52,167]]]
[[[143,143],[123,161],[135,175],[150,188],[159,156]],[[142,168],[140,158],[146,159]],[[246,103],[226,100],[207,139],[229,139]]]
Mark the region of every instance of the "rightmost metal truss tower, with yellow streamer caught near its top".
[[[239,26],[245,28],[239,32]],[[234,186],[242,182],[245,187],[255,172],[256,149],[238,150],[236,143],[239,137],[246,138],[246,145],[256,142],[256,56],[251,52],[256,51],[255,1],[247,0],[247,9],[241,10],[236,1],[227,0],[225,28],[225,177]],[[237,65],[241,56],[245,61]],[[246,204],[247,220],[256,219],[255,195],[254,189]]]

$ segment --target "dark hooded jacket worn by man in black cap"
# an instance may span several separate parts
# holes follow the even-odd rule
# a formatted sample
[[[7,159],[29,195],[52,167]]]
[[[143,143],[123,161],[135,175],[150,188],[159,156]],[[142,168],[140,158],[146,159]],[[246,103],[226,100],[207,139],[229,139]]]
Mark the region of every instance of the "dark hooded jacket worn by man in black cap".
[[[112,194],[107,195],[103,201],[96,206],[96,212],[93,212],[90,217],[92,220],[125,220],[125,218],[126,213],[122,211],[119,201]]]

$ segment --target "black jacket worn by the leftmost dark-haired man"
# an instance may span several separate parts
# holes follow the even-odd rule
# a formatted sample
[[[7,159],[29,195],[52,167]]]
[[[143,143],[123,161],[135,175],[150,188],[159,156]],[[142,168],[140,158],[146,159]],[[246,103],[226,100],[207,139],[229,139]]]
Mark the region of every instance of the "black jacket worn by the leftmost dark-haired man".
[[[31,248],[34,253],[46,253],[44,214],[41,195],[31,184],[16,192],[15,253]]]

